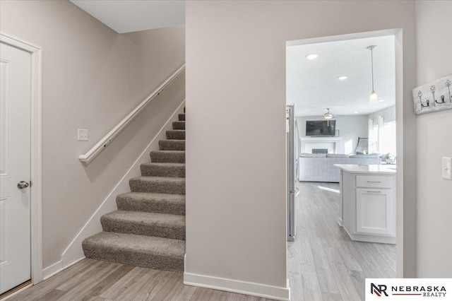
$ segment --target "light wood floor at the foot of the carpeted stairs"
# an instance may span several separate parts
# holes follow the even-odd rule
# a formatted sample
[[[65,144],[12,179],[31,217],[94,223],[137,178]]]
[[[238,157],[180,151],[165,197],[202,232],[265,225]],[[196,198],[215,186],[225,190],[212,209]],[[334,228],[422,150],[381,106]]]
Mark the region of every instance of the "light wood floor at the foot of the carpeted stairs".
[[[183,274],[83,259],[8,301],[270,301],[265,298],[195,288]]]

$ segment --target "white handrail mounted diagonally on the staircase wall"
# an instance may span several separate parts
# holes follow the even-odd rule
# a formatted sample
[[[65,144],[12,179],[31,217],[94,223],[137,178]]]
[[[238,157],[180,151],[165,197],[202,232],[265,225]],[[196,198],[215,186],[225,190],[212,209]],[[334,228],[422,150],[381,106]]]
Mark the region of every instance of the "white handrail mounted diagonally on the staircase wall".
[[[78,160],[81,160],[81,162],[85,165],[89,165],[91,162],[93,162],[97,155],[102,153],[102,151],[105,150],[105,148],[107,148],[109,143],[111,143],[113,139],[116,138],[119,135],[119,133],[121,133],[121,131],[123,131],[126,128],[126,126],[128,126],[133,121],[133,119],[135,119],[135,117],[137,117],[138,114],[140,114],[141,111],[144,110],[146,105],[148,105],[157,95],[159,95],[160,92],[162,92],[162,90],[165,89],[167,85],[169,85],[169,83],[174,81],[174,79],[177,78],[177,76],[179,76],[179,74],[182,73],[182,71],[184,70],[185,64],[182,65],[179,69],[177,69],[176,72],[172,73],[172,75],[169,76],[169,78],[167,78],[166,81],[164,81],[161,85],[159,85],[158,88],[155,89],[153,93],[150,93],[148,98],[143,100],[135,109],[133,109],[132,112],[130,112],[126,117],[124,117],[124,119],[122,119],[121,122],[117,124],[117,126],[114,126],[114,128],[111,131],[109,131],[108,134],[105,135],[102,139],[100,139],[100,141],[97,142],[95,146],[93,146],[93,148],[91,148],[88,151],[88,153],[85,153],[85,155],[78,156]]]

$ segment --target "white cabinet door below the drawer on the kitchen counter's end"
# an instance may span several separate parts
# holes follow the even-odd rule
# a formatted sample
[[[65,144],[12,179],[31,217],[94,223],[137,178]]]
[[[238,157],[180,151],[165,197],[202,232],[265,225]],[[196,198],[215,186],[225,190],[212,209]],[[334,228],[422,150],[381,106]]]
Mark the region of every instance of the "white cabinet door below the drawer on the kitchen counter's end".
[[[356,231],[393,235],[393,189],[356,189]]]

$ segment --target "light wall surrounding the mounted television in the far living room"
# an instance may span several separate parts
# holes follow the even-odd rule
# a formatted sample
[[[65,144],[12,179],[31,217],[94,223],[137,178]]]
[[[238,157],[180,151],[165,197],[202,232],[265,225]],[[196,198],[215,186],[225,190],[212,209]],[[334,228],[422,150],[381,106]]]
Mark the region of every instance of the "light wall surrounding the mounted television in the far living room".
[[[306,136],[307,120],[325,120],[323,116],[299,116],[297,117],[299,136]],[[339,136],[342,137],[340,143],[342,149],[347,155],[355,151],[358,144],[358,137],[367,137],[367,115],[345,115],[337,116],[336,129],[339,130]]]

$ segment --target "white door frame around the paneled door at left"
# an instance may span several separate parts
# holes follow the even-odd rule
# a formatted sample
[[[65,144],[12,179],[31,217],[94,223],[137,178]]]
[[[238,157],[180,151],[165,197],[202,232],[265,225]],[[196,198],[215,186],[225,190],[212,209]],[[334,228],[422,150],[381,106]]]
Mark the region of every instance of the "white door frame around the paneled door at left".
[[[6,33],[0,33],[0,42],[23,49],[31,55],[31,179],[30,179],[30,239],[31,280],[42,281],[42,177],[41,177],[41,85],[42,49]]]

